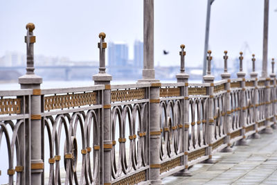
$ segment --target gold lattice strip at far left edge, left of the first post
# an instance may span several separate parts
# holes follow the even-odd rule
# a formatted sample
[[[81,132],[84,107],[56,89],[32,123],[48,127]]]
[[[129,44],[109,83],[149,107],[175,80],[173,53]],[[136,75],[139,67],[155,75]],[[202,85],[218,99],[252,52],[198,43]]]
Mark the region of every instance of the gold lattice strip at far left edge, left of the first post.
[[[20,114],[20,98],[0,99],[0,114]]]

